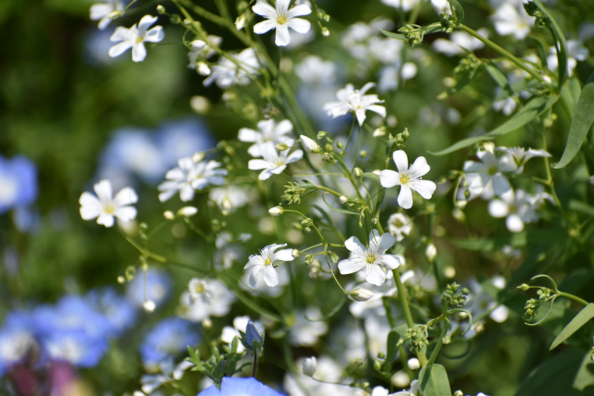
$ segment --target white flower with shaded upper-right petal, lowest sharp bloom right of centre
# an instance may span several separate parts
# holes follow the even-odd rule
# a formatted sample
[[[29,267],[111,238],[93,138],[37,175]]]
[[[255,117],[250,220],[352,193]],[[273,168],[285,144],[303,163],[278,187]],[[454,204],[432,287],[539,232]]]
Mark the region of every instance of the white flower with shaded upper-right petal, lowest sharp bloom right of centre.
[[[341,274],[352,274],[365,268],[365,280],[375,286],[386,281],[387,271],[395,270],[401,263],[400,258],[386,251],[396,243],[393,235],[385,233],[380,236],[378,230],[369,233],[369,246],[365,248],[356,236],[345,241],[345,248],[351,251],[352,257],[338,263]]]

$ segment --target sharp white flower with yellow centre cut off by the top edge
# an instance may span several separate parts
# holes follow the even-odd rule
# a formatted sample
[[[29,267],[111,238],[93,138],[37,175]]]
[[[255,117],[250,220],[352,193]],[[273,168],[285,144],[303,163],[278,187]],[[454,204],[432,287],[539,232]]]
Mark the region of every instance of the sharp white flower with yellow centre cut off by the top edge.
[[[254,33],[264,34],[271,29],[276,29],[274,43],[277,46],[289,44],[291,39],[289,27],[298,33],[307,33],[311,27],[309,21],[296,17],[311,14],[311,8],[307,4],[299,4],[289,9],[289,3],[290,0],[276,0],[276,8],[273,8],[266,1],[258,0],[252,10],[266,20],[254,25]]]

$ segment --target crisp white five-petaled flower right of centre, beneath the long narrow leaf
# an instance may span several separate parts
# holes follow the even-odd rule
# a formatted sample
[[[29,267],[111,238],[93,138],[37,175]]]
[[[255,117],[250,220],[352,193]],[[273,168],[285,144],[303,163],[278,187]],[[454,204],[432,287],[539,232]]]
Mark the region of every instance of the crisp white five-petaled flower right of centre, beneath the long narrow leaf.
[[[403,150],[394,151],[394,163],[398,172],[384,169],[380,172],[380,183],[383,187],[390,188],[400,185],[398,204],[405,208],[412,208],[412,192],[416,191],[425,199],[431,199],[437,186],[431,180],[422,180],[431,167],[427,164],[425,157],[417,157],[409,167],[408,157]]]

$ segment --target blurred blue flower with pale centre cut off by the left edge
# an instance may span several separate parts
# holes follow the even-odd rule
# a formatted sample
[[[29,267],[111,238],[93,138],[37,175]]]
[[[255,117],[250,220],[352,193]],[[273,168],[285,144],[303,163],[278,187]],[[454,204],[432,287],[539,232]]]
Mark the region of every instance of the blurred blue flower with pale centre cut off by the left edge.
[[[25,207],[37,198],[37,167],[24,156],[0,156],[0,214]]]

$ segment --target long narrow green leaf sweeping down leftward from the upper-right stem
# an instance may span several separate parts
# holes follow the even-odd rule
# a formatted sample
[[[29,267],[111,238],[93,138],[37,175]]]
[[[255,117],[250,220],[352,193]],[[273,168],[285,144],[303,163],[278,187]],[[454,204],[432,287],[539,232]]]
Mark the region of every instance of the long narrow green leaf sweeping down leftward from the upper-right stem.
[[[508,119],[502,125],[493,129],[491,132],[481,136],[473,136],[460,140],[441,151],[429,151],[429,154],[432,156],[444,156],[445,154],[450,154],[454,151],[460,150],[460,148],[465,148],[478,142],[493,140],[494,138],[508,134],[511,131],[522,128],[522,126],[542,115],[542,113],[550,109],[553,104],[557,103],[557,100],[559,100],[558,95],[552,96],[549,99],[546,99],[542,96],[533,97],[528,103],[526,103],[526,106],[524,106],[522,110],[517,112],[516,115]]]

